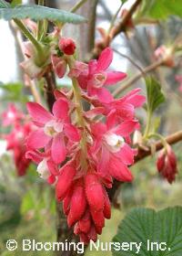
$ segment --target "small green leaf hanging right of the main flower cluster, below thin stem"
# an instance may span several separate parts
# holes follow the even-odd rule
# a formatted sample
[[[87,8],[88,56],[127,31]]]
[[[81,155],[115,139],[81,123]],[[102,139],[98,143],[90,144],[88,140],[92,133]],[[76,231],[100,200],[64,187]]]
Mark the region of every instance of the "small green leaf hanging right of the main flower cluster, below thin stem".
[[[161,86],[153,77],[146,78],[147,87],[147,111],[153,113],[157,107],[165,101]]]

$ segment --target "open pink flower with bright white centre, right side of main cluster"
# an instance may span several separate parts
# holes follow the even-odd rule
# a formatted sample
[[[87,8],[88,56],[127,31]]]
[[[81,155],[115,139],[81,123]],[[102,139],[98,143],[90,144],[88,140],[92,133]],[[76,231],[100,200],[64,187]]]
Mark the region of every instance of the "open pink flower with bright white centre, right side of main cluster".
[[[135,151],[126,144],[126,139],[138,128],[138,123],[125,121],[113,126],[108,119],[106,124],[95,123],[91,128],[95,142],[90,152],[96,161],[97,172],[101,176],[109,174],[117,180],[131,181],[133,176],[127,165],[134,163]]]

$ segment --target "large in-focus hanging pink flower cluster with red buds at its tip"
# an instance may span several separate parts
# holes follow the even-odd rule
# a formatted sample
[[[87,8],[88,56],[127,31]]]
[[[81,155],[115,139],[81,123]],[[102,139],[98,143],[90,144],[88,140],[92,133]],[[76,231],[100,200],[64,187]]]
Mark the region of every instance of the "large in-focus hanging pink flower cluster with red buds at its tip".
[[[52,112],[34,102],[27,104],[37,129],[27,139],[26,157],[37,163],[40,176],[56,185],[67,224],[85,243],[96,241],[110,218],[106,188],[112,187],[113,179],[133,179],[128,166],[134,163],[136,151],[130,136],[139,128],[135,110],[145,101],[139,89],[113,98],[107,87],[126,74],[108,70],[112,59],[112,49],[106,48],[98,60],[76,61],[68,76],[77,83],[77,92],[55,91]],[[75,93],[80,101],[73,102]],[[90,110],[83,110],[81,100]]]

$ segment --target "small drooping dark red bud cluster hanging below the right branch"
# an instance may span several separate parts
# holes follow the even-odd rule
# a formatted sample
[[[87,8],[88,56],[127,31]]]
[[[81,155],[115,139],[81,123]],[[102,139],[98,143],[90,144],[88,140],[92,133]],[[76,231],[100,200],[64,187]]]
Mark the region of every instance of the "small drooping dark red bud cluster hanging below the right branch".
[[[167,150],[163,149],[157,158],[158,172],[167,178],[168,183],[172,183],[177,175],[177,157],[171,146],[167,145]]]

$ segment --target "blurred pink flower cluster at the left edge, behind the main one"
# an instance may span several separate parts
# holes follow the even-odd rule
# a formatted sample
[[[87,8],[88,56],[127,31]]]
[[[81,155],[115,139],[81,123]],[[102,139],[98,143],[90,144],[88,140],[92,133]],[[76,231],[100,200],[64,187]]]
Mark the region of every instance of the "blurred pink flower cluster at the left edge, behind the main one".
[[[24,176],[30,160],[25,157],[25,138],[32,131],[32,124],[25,122],[25,114],[18,111],[14,104],[10,104],[2,114],[3,126],[11,126],[12,131],[3,135],[7,142],[6,149],[13,151],[18,176]]]

